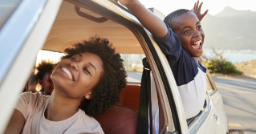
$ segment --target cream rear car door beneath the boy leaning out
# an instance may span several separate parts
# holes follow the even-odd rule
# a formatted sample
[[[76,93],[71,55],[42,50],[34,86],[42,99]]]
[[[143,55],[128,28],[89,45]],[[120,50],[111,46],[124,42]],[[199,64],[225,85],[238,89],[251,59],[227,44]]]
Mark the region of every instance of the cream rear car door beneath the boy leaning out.
[[[203,66],[204,63],[201,64]],[[217,91],[209,71],[206,73],[207,96],[205,108],[201,110],[200,120],[194,120],[189,125],[189,132],[192,133],[226,133],[228,132],[228,121],[224,111],[223,100]]]

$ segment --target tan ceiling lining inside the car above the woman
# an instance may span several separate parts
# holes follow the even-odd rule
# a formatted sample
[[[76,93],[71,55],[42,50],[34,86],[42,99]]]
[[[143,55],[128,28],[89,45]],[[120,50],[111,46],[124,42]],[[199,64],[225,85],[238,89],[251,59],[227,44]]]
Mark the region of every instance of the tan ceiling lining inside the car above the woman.
[[[80,8],[85,14],[101,18],[90,10]],[[144,54],[140,43],[125,26],[111,20],[106,22],[94,22],[83,18],[75,12],[75,6],[70,2],[63,1],[59,13],[47,37],[43,50],[63,52],[72,44],[82,42],[91,36],[98,35],[109,39],[116,51],[121,54]]]

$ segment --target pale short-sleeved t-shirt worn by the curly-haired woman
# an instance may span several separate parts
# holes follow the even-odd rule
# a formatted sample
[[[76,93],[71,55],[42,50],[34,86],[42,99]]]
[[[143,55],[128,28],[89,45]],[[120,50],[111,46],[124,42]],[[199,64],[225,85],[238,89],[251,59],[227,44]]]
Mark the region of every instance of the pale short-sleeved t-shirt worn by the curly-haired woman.
[[[44,116],[50,96],[39,93],[25,92],[19,96],[16,109],[25,117],[24,134],[43,133],[104,133],[94,118],[87,116],[79,109],[75,115],[62,121],[47,120]]]

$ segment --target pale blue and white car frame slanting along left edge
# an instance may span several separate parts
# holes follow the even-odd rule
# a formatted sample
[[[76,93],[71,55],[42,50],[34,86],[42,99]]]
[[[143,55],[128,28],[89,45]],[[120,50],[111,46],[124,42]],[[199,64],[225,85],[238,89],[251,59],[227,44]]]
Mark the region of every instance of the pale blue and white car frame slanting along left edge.
[[[47,38],[61,2],[0,2],[3,5],[0,6],[1,10],[6,11],[0,18],[0,133],[6,128],[17,102],[16,96],[26,83],[35,57]]]

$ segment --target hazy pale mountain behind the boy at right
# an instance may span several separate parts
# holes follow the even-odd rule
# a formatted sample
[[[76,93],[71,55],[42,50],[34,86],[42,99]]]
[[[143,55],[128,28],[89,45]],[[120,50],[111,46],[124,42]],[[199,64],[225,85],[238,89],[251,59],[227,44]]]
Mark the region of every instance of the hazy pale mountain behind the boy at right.
[[[204,48],[256,51],[256,12],[227,6],[216,15],[206,14]]]

